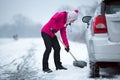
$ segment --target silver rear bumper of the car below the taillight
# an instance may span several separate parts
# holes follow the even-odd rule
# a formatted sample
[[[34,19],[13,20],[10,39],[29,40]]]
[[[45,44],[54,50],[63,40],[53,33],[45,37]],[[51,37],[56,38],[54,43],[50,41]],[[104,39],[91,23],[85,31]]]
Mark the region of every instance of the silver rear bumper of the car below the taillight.
[[[91,38],[93,57],[100,62],[120,62],[120,43],[113,43],[107,37]]]

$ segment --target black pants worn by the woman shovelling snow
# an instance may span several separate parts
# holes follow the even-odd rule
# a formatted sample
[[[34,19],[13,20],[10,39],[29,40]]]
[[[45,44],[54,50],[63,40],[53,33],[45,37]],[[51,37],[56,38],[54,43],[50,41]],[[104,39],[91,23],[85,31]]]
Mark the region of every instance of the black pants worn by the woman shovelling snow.
[[[43,55],[43,70],[48,69],[49,65],[48,65],[48,59],[49,59],[49,55],[51,53],[51,49],[54,49],[54,63],[56,68],[61,66],[61,62],[60,62],[60,45],[59,42],[57,40],[57,37],[55,36],[54,38],[50,37],[48,34],[42,32],[42,38],[44,40],[44,44],[45,44],[45,52]]]

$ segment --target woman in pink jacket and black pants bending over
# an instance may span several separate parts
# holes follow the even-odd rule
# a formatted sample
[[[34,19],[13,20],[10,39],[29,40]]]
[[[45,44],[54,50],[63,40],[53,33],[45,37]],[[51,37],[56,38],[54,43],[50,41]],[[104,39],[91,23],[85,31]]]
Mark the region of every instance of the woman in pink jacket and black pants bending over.
[[[78,18],[78,10],[74,10],[71,12],[57,12],[52,18],[43,26],[41,30],[41,35],[44,40],[44,44],[46,50],[43,55],[43,71],[44,72],[52,72],[49,69],[48,59],[51,53],[51,49],[54,50],[54,63],[56,66],[56,70],[67,70],[67,68],[62,66],[60,61],[60,45],[55,35],[56,32],[60,31],[62,41],[65,44],[65,50],[69,52],[69,43],[66,35],[66,28],[68,25],[73,23]]]

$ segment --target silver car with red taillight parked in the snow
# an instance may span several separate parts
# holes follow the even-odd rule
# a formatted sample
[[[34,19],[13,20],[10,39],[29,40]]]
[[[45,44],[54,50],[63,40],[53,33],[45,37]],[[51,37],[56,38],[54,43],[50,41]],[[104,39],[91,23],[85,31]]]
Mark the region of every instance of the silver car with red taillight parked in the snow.
[[[99,77],[100,67],[120,64],[120,0],[103,0],[94,16],[84,16],[90,76]]]

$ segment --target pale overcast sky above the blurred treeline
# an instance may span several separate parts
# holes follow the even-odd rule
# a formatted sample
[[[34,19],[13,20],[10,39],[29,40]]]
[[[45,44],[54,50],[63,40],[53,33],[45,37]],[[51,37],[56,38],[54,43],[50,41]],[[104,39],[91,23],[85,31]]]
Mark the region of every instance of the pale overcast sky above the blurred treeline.
[[[11,22],[12,17],[22,14],[44,24],[63,5],[77,8],[81,4],[92,5],[95,0],[0,0],[0,25]]]

